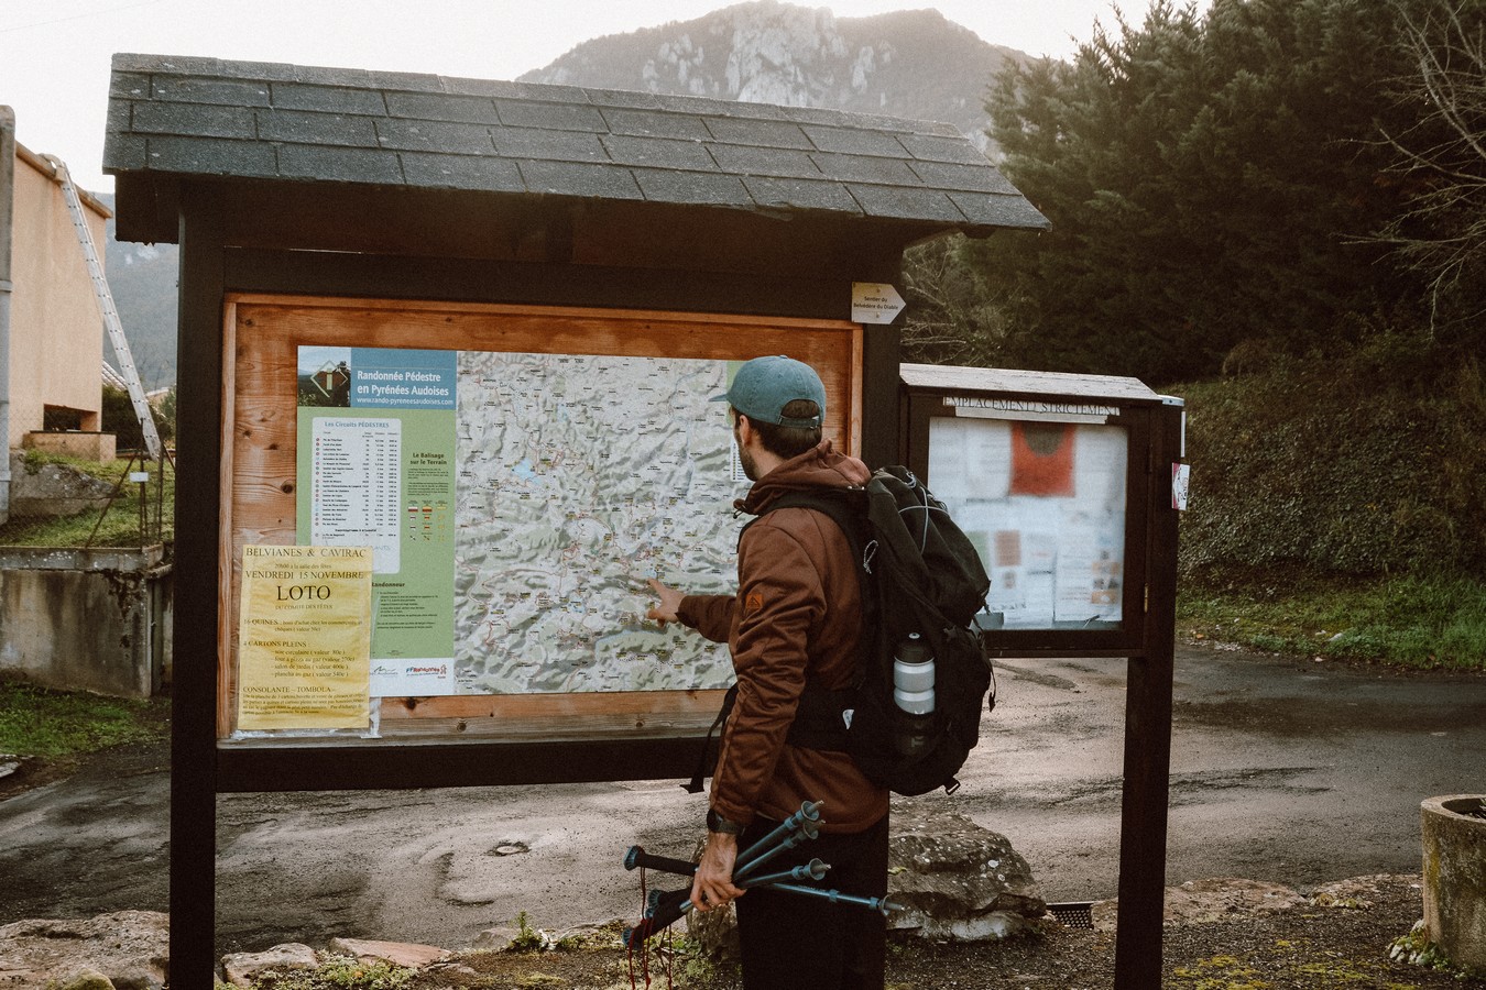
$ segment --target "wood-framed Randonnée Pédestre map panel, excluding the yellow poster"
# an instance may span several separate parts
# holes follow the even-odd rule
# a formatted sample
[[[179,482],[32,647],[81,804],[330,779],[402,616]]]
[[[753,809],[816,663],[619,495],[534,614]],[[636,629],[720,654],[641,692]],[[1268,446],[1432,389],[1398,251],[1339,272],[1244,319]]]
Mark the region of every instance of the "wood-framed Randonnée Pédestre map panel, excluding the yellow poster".
[[[229,295],[223,316],[229,747],[303,735],[239,733],[242,548],[342,542],[377,561],[372,724],[337,738],[695,738],[727,649],[645,612],[648,577],[736,583],[747,481],[727,405],[707,399],[737,362],[788,353],[826,384],[826,435],[860,445],[862,328],[847,321],[257,294]],[[376,374],[355,381],[358,367]]]

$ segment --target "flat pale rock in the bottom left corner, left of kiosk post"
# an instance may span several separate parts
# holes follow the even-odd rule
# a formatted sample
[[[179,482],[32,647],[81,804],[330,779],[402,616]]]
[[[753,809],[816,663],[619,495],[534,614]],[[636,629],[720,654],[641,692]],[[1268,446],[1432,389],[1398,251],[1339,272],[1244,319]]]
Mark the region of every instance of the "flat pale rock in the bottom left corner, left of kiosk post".
[[[169,960],[169,917],[117,911],[77,920],[0,926],[0,989],[89,987],[160,990]]]

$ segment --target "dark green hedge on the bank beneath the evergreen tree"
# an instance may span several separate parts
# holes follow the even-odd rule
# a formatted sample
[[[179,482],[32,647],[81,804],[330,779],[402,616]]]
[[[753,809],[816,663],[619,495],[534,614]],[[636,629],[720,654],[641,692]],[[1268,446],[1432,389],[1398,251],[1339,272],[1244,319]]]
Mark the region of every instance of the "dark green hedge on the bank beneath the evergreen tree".
[[[1470,356],[1379,334],[1187,399],[1183,577],[1486,574],[1486,392]]]

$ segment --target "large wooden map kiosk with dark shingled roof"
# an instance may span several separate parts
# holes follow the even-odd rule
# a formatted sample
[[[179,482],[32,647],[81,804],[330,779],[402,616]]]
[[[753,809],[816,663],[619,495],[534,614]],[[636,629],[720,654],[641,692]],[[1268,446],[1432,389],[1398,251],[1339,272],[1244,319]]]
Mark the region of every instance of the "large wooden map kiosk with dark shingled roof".
[[[1048,226],[944,125],[212,58],[114,56],[104,168],[181,257],[178,980],[217,794],[690,775],[727,658],[643,580],[730,573],[707,399],[788,353],[923,456],[903,248]]]

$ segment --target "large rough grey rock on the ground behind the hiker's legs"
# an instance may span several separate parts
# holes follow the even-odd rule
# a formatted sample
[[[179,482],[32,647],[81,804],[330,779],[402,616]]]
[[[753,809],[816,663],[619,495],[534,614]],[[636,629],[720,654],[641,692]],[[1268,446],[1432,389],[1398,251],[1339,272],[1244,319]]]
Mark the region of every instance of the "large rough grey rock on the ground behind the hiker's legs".
[[[1031,867],[1006,836],[927,801],[893,807],[887,896],[895,931],[987,941],[1033,929],[1048,913]]]

